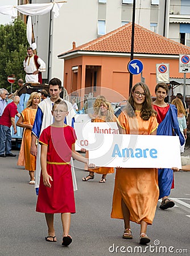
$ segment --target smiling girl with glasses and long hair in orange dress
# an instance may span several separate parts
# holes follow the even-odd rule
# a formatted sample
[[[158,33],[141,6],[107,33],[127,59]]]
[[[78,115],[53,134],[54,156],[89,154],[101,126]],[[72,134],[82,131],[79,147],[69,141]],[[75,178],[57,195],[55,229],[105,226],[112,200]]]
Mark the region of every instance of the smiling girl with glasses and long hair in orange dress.
[[[119,115],[119,133],[156,135],[158,123],[152,109],[150,90],[143,82],[134,85],[129,105]],[[132,239],[130,221],[141,225],[140,243],[150,242],[146,234],[158,203],[158,170],[156,168],[117,168],[111,218],[124,219],[123,238]]]

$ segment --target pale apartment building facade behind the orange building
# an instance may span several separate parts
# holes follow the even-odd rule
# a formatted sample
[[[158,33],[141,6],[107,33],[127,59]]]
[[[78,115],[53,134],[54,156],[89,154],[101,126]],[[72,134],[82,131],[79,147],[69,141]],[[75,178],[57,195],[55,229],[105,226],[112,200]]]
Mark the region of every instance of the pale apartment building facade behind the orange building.
[[[135,23],[188,46],[189,9],[189,0],[136,0]],[[132,16],[133,0],[68,0],[61,7],[59,18],[51,13],[34,16],[37,52],[47,64],[43,79],[48,81],[55,76],[63,79],[64,63],[57,55],[71,49],[72,42],[79,46],[96,39],[131,22]]]

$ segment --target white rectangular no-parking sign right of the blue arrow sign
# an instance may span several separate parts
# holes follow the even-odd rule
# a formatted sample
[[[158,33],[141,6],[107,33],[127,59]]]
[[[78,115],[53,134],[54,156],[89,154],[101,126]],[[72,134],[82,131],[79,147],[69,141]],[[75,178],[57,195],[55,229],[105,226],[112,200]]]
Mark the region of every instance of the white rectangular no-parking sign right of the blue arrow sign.
[[[156,82],[170,82],[170,64],[156,64]]]

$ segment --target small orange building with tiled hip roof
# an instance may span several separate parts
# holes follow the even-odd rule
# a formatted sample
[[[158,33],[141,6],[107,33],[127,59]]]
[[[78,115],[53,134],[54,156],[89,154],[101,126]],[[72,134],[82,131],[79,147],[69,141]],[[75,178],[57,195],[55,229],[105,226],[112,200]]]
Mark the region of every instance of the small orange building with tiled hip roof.
[[[64,59],[64,87],[68,93],[80,90],[82,94],[92,92],[94,97],[109,88],[123,97],[129,96],[129,76],[127,64],[130,61],[131,27],[128,23],[89,43],[61,53]],[[190,47],[164,38],[135,24],[134,59],[143,63],[142,74],[133,76],[133,85],[144,77],[152,96],[156,85],[156,64],[170,64],[170,77],[183,78],[179,73],[179,54],[190,54]],[[190,73],[187,73],[190,78]],[[84,96],[84,95],[79,95]],[[118,96],[119,97],[119,96]],[[108,98],[108,97],[107,97]],[[121,101],[121,98],[110,101]]]

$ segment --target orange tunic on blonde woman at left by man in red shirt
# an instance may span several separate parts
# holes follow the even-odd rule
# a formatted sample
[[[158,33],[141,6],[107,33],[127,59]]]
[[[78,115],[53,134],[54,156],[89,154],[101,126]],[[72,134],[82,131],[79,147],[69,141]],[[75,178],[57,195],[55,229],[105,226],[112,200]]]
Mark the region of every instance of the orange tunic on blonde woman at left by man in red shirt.
[[[23,110],[23,124],[34,125],[37,109],[26,108]],[[25,166],[25,170],[35,171],[36,170],[36,157],[30,154],[31,147],[31,130],[24,128],[22,144],[20,146],[20,152],[18,157],[18,166]]]

